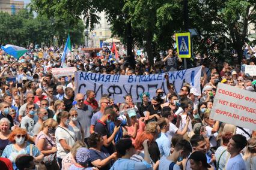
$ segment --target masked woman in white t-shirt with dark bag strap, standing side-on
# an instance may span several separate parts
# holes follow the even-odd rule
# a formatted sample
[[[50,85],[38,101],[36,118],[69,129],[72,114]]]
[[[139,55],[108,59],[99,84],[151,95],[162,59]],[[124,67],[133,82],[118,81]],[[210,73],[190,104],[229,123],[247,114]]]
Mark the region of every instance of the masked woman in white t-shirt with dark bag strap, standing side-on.
[[[69,126],[70,114],[67,111],[61,111],[57,116],[59,126],[55,131],[57,145],[57,160],[61,169],[62,159],[69,153],[73,144],[76,142],[76,135],[73,128]]]

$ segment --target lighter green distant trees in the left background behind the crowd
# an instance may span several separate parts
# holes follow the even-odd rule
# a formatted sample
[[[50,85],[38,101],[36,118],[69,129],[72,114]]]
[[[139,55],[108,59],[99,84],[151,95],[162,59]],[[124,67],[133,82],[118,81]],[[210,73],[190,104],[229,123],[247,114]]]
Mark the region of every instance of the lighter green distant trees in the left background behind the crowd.
[[[46,15],[34,17],[31,11],[21,10],[16,15],[0,13],[0,43],[15,44],[23,47],[30,43],[62,45],[67,34],[73,44],[84,44],[84,23],[78,20],[76,25],[68,26],[58,17],[49,19]],[[58,39],[54,44],[54,38]]]

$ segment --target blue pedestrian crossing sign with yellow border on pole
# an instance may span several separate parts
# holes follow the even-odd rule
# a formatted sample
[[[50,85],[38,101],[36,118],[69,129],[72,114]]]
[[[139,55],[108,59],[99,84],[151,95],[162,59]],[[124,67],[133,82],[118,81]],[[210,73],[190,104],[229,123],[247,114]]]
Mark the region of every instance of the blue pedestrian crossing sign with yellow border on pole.
[[[175,34],[177,53],[181,58],[191,57],[190,32]]]

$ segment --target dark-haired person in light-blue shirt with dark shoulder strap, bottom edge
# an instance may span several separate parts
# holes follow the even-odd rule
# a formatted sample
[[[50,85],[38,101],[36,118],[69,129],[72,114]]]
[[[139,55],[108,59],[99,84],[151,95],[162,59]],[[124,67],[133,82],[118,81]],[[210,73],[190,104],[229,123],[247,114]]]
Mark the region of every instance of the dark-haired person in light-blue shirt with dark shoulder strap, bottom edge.
[[[159,163],[159,169],[179,170],[180,166],[176,164],[178,160],[186,159],[192,151],[188,141],[182,139],[175,144],[174,151],[169,156],[162,156]]]

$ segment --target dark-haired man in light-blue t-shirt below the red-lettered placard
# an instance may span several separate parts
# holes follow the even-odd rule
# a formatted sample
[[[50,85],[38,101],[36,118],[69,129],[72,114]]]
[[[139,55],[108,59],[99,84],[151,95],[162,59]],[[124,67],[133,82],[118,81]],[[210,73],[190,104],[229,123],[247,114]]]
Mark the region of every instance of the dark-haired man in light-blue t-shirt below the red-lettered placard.
[[[245,161],[241,156],[241,150],[247,145],[245,136],[236,134],[233,135],[228,142],[227,151],[230,153],[230,159],[228,160],[226,170],[246,170]]]

